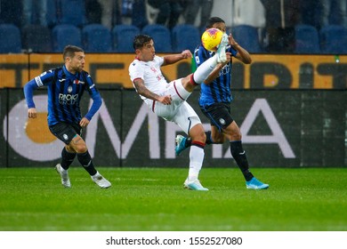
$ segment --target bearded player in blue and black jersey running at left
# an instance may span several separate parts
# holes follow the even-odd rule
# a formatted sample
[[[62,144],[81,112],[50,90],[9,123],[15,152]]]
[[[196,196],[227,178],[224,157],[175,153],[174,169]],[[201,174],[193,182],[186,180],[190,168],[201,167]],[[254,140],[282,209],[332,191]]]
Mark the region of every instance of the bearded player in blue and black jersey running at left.
[[[101,107],[101,95],[95,87],[91,76],[85,72],[85,52],[83,49],[68,45],[64,48],[61,68],[54,68],[36,76],[24,86],[24,95],[28,104],[28,117],[36,118],[36,108],[33,92],[46,86],[48,90],[48,126],[51,133],[65,143],[61,151],[61,164],[55,166],[61,175],[61,183],[70,188],[69,165],[74,158],[91,175],[92,180],[102,189],[107,189],[111,183],[106,180],[93,166],[93,160],[88,152],[82,136],[82,128],[87,126],[93,115]],[[93,99],[93,105],[82,117],[79,102],[84,92]]]

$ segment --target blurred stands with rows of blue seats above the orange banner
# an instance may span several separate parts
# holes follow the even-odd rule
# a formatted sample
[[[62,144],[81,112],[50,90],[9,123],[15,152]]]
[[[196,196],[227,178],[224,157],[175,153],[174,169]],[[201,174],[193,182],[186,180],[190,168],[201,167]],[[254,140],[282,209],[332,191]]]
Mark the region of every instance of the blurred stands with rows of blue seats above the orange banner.
[[[197,10],[193,24],[185,23],[183,9],[175,27],[168,28],[165,24],[157,26],[158,10],[149,5],[148,0],[30,2],[37,4],[41,1],[46,4],[45,10],[44,7],[40,8],[45,12],[45,21],[42,21],[42,12],[38,12],[35,5],[28,9],[28,6],[24,8],[22,0],[0,0],[1,53],[62,52],[67,44],[82,46],[86,52],[133,52],[133,36],[144,32],[156,39],[157,52],[180,52],[183,49],[193,52],[205,29],[200,20],[201,8]],[[285,3],[290,0],[271,1]],[[332,6],[329,16],[332,19],[324,27],[318,19],[307,18],[309,15],[319,16],[320,1],[307,0],[297,6],[298,16],[303,18],[299,18],[293,28],[293,52],[345,54],[346,26],[343,21],[338,23],[343,19],[343,14],[334,5],[339,0],[330,0]],[[347,1],[344,2],[347,4]],[[271,53],[266,9],[262,3],[262,0],[214,0],[211,16],[225,20],[227,32],[232,32],[238,44],[249,52]],[[308,8],[310,3],[311,9]],[[24,14],[28,10],[30,14]]]

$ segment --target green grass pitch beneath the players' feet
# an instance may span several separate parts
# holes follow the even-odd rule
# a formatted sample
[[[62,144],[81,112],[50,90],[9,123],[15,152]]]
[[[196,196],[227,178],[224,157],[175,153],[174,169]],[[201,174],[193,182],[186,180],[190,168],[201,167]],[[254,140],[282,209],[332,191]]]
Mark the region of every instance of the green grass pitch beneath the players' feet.
[[[267,190],[246,189],[236,168],[203,168],[207,192],[182,188],[187,169],[98,169],[110,189],[81,167],[71,189],[53,168],[0,169],[0,230],[347,230],[345,168],[254,168]]]

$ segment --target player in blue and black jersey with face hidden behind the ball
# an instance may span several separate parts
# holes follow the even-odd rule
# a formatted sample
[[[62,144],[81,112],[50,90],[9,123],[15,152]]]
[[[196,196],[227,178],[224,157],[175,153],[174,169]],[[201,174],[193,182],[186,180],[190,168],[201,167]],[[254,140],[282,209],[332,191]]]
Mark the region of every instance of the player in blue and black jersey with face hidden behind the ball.
[[[218,28],[226,31],[225,21],[219,17],[211,17],[207,20],[206,28]],[[226,52],[245,64],[252,62],[249,53],[241,47],[230,34],[229,44]],[[212,57],[214,52],[207,51],[201,44],[194,52],[197,66]],[[226,139],[230,142],[230,152],[238,164],[246,180],[247,189],[268,189],[269,184],[257,180],[249,171],[246,152],[242,148],[241,132],[238,124],[230,114],[231,96],[231,66],[232,59],[219,64],[206,78],[205,84],[201,84],[199,106],[211,122],[211,132],[206,132],[206,144],[223,143]],[[190,147],[190,138],[182,135],[176,137],[176,154],[179,155],[183,149]]]

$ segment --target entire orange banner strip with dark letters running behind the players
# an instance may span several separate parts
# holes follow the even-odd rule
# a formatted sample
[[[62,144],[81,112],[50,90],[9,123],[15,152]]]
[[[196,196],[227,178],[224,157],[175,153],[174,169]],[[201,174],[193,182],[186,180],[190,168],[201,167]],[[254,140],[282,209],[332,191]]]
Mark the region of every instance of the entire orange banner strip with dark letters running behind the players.
[[[165,55],[165,54],[159,54]],[[100,87],[133,88],[128,75],[134,54],[87,53],[85,71]],[[254,54],[244,65],[234,59],[233,87],[237,89],[346,89],[347,56]],[[163,67],[167,81],[187,76],[191,61]],[[22,87],[30,79],[63,64],[62,55],[11,54],[0,56],[0,88]]]

